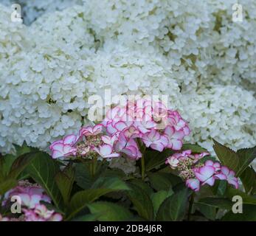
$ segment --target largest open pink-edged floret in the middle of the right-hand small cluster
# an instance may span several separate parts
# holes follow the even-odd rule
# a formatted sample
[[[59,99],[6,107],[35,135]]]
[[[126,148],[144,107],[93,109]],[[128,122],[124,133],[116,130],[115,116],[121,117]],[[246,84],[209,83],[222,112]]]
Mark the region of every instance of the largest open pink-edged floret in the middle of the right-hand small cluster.
[[[209,184],[212,186],[215,182],[214,174],[215,167],[212,166],[204,166],[194,170],[196,178],[202,182],[202,185]]]

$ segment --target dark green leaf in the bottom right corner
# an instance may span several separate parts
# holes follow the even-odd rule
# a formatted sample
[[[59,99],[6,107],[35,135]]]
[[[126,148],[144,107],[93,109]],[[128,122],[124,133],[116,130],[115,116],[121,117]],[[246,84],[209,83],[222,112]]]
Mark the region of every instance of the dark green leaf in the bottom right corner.
[[[256,221],[256,206],[243,204],[243,213],[229,211],[221,221]]]

